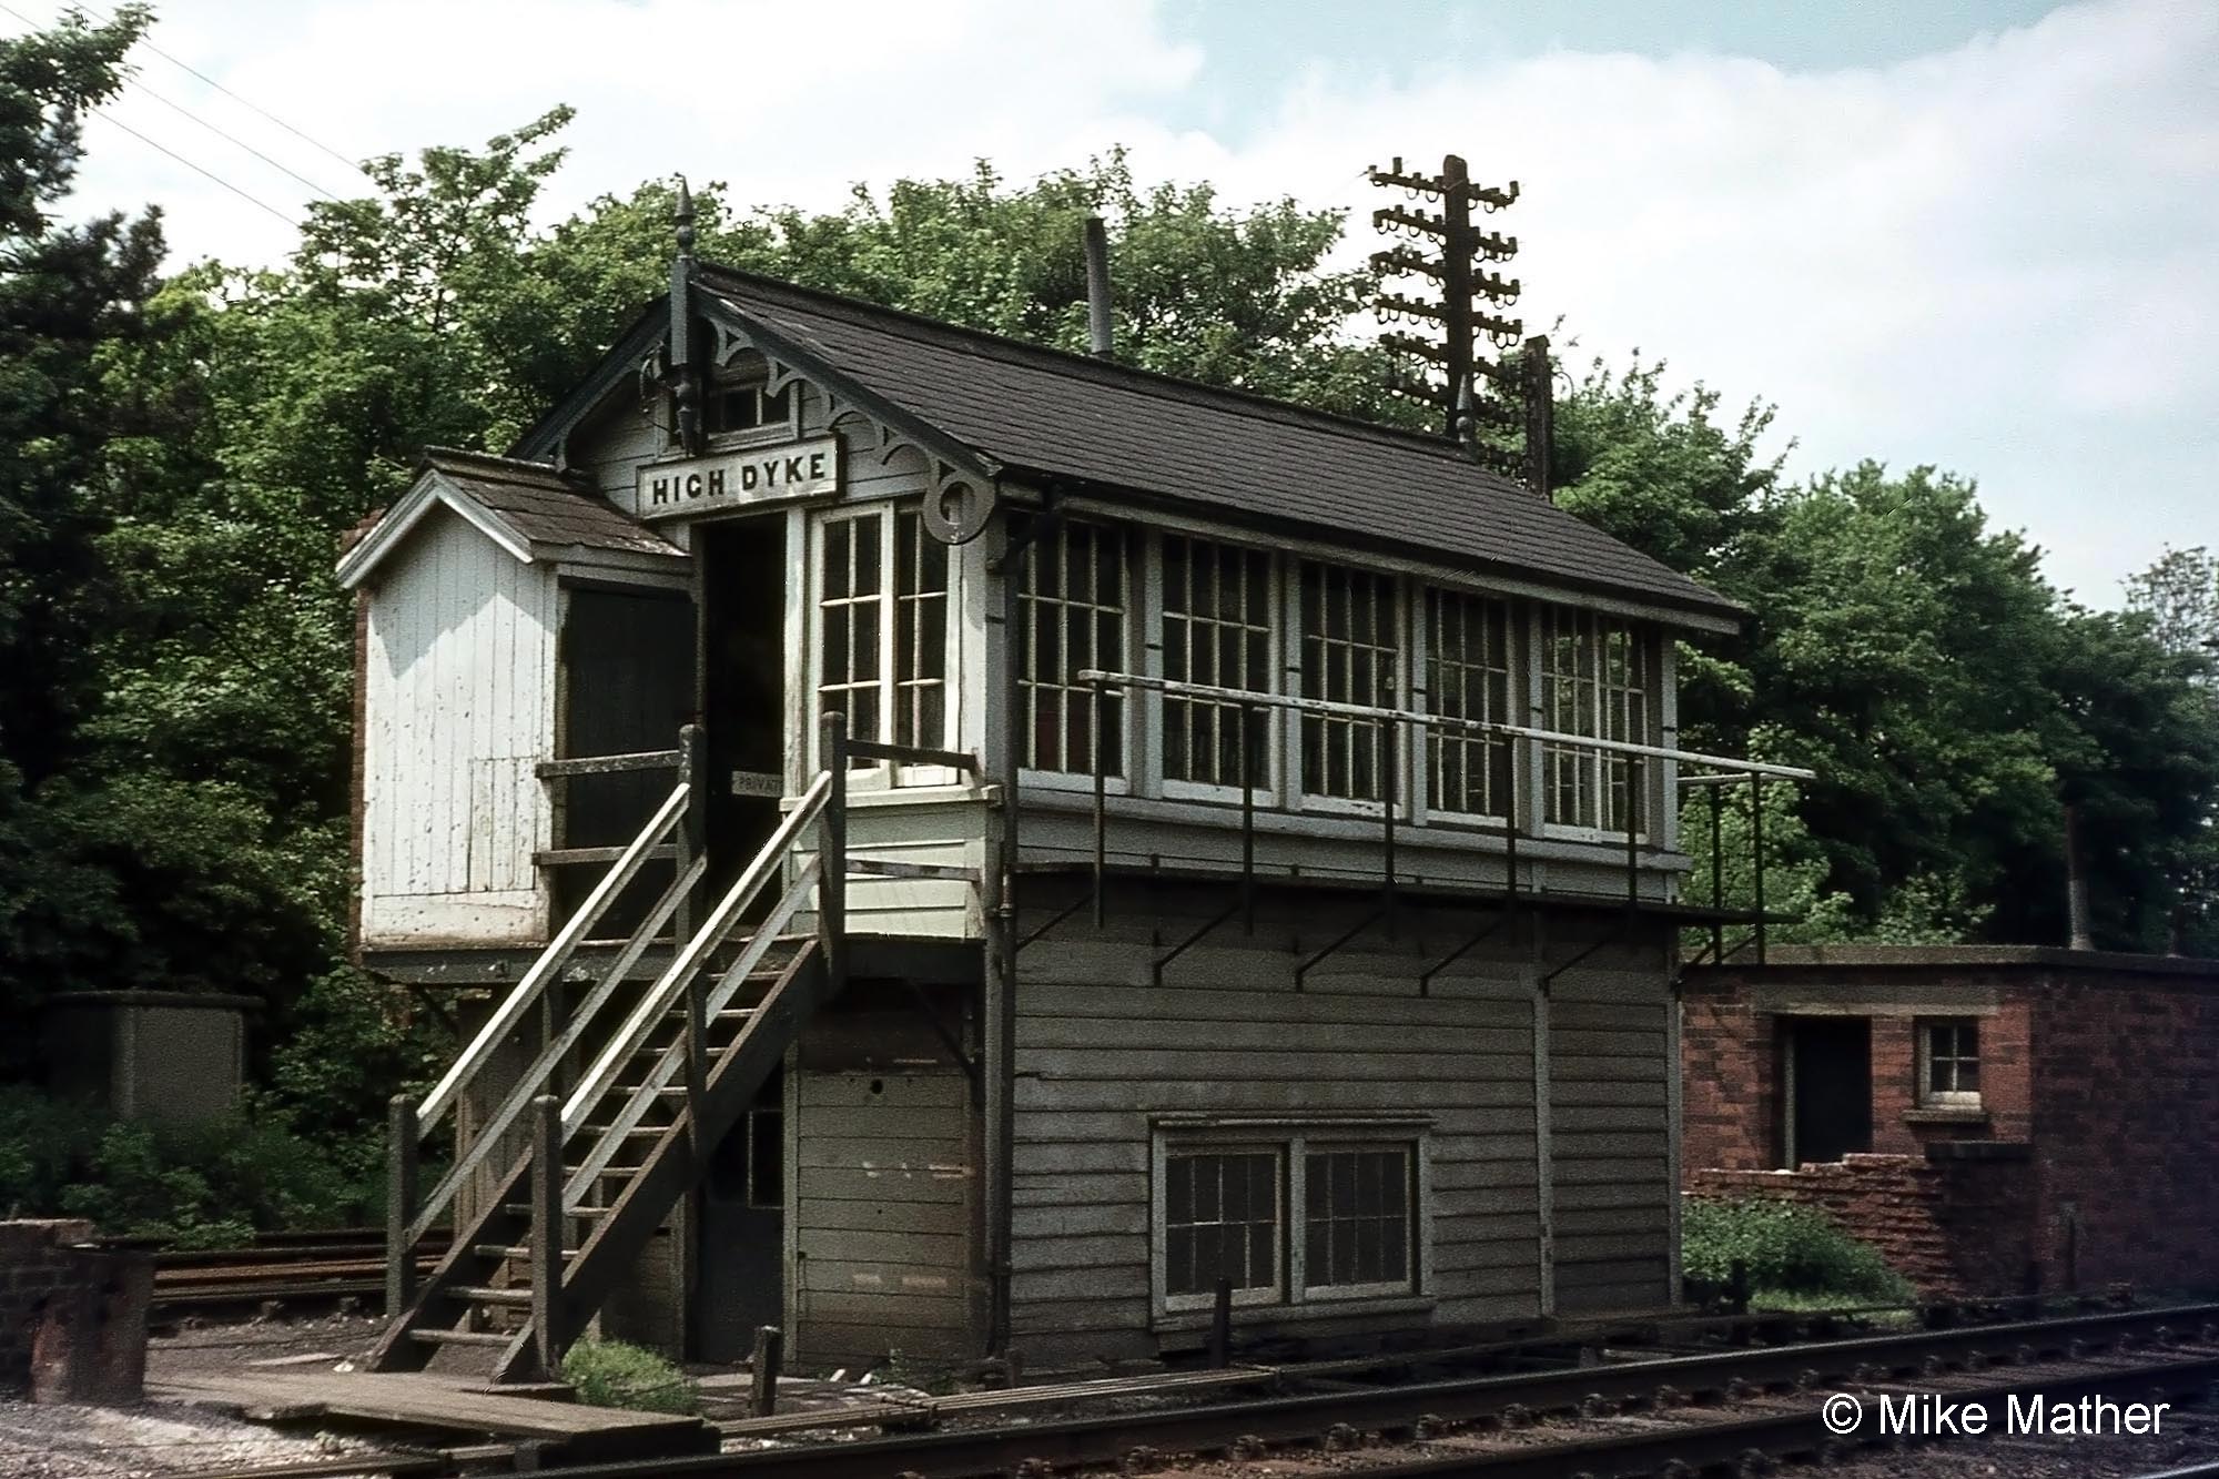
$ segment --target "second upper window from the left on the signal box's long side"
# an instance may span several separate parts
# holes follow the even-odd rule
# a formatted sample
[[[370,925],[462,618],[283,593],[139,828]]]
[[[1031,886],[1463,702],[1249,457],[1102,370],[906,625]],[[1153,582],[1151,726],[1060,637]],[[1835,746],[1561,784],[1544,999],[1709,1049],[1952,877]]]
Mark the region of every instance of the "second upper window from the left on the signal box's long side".
[[[1163,537],[1163,675],[1271,693],[1271,557],[1183,535]],[[1205,786],[1267,784],[1258,773],[1269,711],[1252,711],[1243,764],[1240,706],[1165,695],[1163,777]]]

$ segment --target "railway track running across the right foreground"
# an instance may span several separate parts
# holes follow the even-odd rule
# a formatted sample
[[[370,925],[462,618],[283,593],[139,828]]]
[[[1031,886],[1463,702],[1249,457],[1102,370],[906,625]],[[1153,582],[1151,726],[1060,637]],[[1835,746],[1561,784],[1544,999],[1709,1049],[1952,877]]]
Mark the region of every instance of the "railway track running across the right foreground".
[[[1882,1437],[1879,1392],[1953,1388],[2006,1401],[2106,1395],[2188,1401],[2219,1381],[2219,1304],[1877,1335],[1815,1346],[1655,1357],[1571,1370],[1289,1392],[981,1426],[861,1441],[814,1441],[566,1468],[573,1479],[974,1479],[1116,1466],[1154,1472],[1174,1455],[1271,1459],[1271,1472],[1329,1448],[1389,1446],[1365,1475],[1649,1475],[1729,1463],[1742,1472]],[[1820,1403],[1860,1403],[1860,1432],[1828,1432]],[[748,1423],[728,1423],[739,1437]],[[1684,1468],[1675,1468],[1684,1466]]]

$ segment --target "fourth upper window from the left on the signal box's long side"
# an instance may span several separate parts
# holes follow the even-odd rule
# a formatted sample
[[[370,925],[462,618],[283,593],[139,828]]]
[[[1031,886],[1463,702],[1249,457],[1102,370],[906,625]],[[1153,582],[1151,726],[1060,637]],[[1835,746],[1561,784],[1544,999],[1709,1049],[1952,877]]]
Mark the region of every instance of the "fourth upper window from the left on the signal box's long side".
[[[1451,720],[1509,722],[1509,606],[1456,591],[1425,593],[1427,711]],[[1502,735],[1433,728],[1427,735],[1433,811],[1500,817],[1511,795],[1511,746]]]

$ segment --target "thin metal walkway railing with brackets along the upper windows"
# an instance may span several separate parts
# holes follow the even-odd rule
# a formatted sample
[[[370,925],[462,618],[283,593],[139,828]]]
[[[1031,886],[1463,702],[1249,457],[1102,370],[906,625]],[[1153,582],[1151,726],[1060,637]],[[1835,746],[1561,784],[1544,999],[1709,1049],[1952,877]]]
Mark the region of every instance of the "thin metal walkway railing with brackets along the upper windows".
[[[1720,786],[1720,784],[1740,782],[1740,779],[1746,777],[1746,782],[1751,786],[1751,819],[1753,819],[1753,851],[1755,851],[1755,873],[1753,873],[1753,877],[1755,877],[1755,891],[1757,891],[1755,893],[1753,917],[1755,917],[1755,944],[1757,944],[1757,959],[1760,962],[1764,959],[1764,806],[1762,806],[1762,784],[1766,779],[1817,779],[1815,771],[1806,771],[1802,766],[1782,766],[1782,764],[1771,764],[1771,762],[1762,762],[1762,759],[1740,759],[1740,757],[1733,757],[1733,755],[1711,755],[1711,753],[1704,753],[1704,751],[1684,751],[1684,748],[1666,746],[1666,744],[1638,744],[1638,742],[1631,742],[1631,740],[1604,740],[1604,737],[1598,737],[1598,735],[1573,735],[1573,733],[1567,733],[1567,731],[1538,728],[1533,724],[1507,724],[1507,722],[1500,722],[1500,720],[1469,720],[1469,717],[1458,717],[1458,715],[1425,713],[1420,708],[1396,708],[1396,706],[1389,706],[1389,704],[1349,704],[1349,702],[1340,702],[1340,700],[1314,700],[1314,697],[1298,697],[1298,695],[1289,695],[1289,693],[1260,693],[1260,691],[1254,691],[1254,688],[1227,688],[1227,686],[1218,686],[1218,684],[1196,684],[1196,682],[1185,682],[1185,680],[1174,680],[1174,677],[1154,677],[1154,675],[1145,675],[1145,673],[1116,673],[1116,671],[1107,671],[1107,668],[1081,668],[1078,675],[1076,675],[1076,682],[1085,684],[1090,688],[1090,693],[1092,693],[1092,706],[1094,708],[1092,708],[1092,715],[1090,715],[1092,717],[1092,731],[1090,733],[1094,733],[1094,735],[1101,735],[1103,697],[1105,697],[1105,693],[1110,688],[1163,693],[1167,697],[1183,697],[1183,700],[1196,700],[1196,702],[1205,702],[1205,704],[1218,704],[1218,706],[1225,706],[1225,708],[1234,708],[1240,715],[1240,722],[1238,722],[1240,779],[1234,786],[1240,793],[1240,899],[1232,908],[1227,908],[1223,915],[1218,915],[1212,922],[1207,922],[1200,930],[1196,930],[1187,939],[1174,944],[1172,950],[1169,950],[1169,955],[1163,955],[1156,962],[1158,975],[1161,975],[1161,968],[1165,964],[1169,964],[1172,959],[1176,959],[1183,950],[1192,948],[1200,939],[1200,935],[1207,935],[1212,928],[1216,928],[1218,924],[1232,919],[1236,913],[1243,917],[1243,924],[1247,928],[1254,928],[1254,917],[1256,917],[1256,795],[1263,788],[1260,782],[1258,782],[1258,775],[1256,775],[1256,768],[1258,768],[1256,766],[1256,751],[1258,751],[1258,746],[1254,744],[1254,740],[1256,740],[1256,733],[1258,733],[1256,731],[1256,715],[1258,715],[1258,711],[1265,711],[1265,708],[1291,711],[1291,713],[1300,713],[1300,715],[1318,715],[1318,717],[1367,722],[1378,733],[1378,755],[1380,755],[1380,762],[1378,762],[1378,775],[1380,775],[1378,811],[1380,811],[1380,873],[1382,873],[1380,882],[1382,882],[1382,904],[1380,904],[1378,915],[1358,922],[1349,930],[1349,935],[1356,935],[1356,933],[1369,928],[1369,924],[1374,919],[1378,919],[1378,917],[1385,917],[1389,922],[1394,919],[1396,897],[1398,897],[1396,848],[1398,848],[1398,842],[1400,842],[1398,831],[1405,824],[1402,822],[1405,799],[1396,795],[1396,786],[1398,786],[1398,773],[1402,768],[1405,733],[1416,740],[1416,746],[1422,746],[1427,742],[1427,737],[1433,735],[1433,733],[1480,735],[1480,737],[1487,737],[1487,740],[1500,740],[1500,742],[1504,742],[1509,746],[1509,757],[1507,759],[1509,759],[1511,784],[1507,786],[1507,795],[1502,797],[1500,824],[1498,826],[1487,826],[1487,822],[1496,822],[1496,819],[1493,817],[1482,819],[1482,831],[1491,831],[1491,833],[1496,833],[1496,835],[1502,837],[1502,851],[1504,851],[1504,895],[1507,895],[1507,902],[1511,906],[1516,906],[1518,893],[1520,893],[1520,884],[1518,884],[1518,873],[1520,873],[1520,868],[1518,868],[1518,851],[1520,851],[1520,844],[1544,839],[1542,826],[1547,826],[1544,817],[1540,819],[1542,826],[1536,826],[1533,806],[1538,802],[1538,795],[1527,795],[1529,788],[1538,791],[1540,779],[1542,779],[1540,777],[1540,768],[1533,764],[1533,755],[1531,755],[1536,744],[1544,746],[1544,748],[1551,748],[1551,751],[1553,748],[1578,748],[1578,751],[1589,751],[1589,753],[1602,753],[1602,755],[1624,757],[1624,762],[1627,762],[1627,777],[1624,777],[1624,806],[1622,806],[1622,811],[1624,811],[1624,828],[1622,828],[1622,835],[1624,835],[1624,868],[1627,868],[1627,895],[1624,895],[1627,908],[1640,906],[1640,848],[1646,842],[1644,813],[1649,811],[1649,791],[1642,784],[1644,764],[1646,762],[1662,762],[1662,764],[1680,764],[1680,766],[1700,766],[1702,773],[1698,773],[1698,775],[1680,775],[1678,777],[1678,782],[1682,786]],[[1094,908],[1094,924],[1101,926],[1103,924],[1105,884],[1107,884],[1107,864],[1110,864],[1110,842],[1107,842],[1107,837],[1110,837],[1110,777],[1107,777],[1107,771],[1105,771],[1105,764],[1103,764],[1105,746],[1094,744],[1092,748],[1094,748],[1094,755],[1092,755],[1092,782],[1094,782],[1094,857],[1092,857],[1092,875],[1094,877],[1092,877],[1092,895],[1090,895],[1090,899],[1092,899],[1092,908]],[[1595,802],[1595,817],[1598,817],[1598,822],[1607,822],[1609,819],[1609,813],[1611,813],[1609,791],[1613,791],[1613,788],[1615,786],[1607,784],[1604,791],[1602,791],[1602,795],[1598,795],[1598,802]],[[1718,955],[1722,959],[1726,955],[1726,950],[1724,950],[1724,919],[1722,919],[1726,910],[1724,910],[1724,873],[1722,873],[1722,866],[1720,866],[1722,822],[1720,822],[1718,791],[1713,791],[1711,797],[1713,797],[1713,806],[1711,806],[1711,819],[1713,819],[1713,828],[1711,828],[1711,833],[1713,833],[1713,848],[1711,848],[1711,886],[1713,886],[1711,910],[1713,910],[1713,922],[1711,922],[1711,930],[1713,930],[1713,942],[1711,944],[1713,944],[1713,948],[1718,950]],[[1609,828],[1607,826],[1598,826],[1593,831],[1602,833],[1602,831],[1609,831]],[[1303,970],[1296,973],[1296,982],[1300,984],[1300,975],[1307,973],[1309,966],[1318,964],[1325,955],[1331,955],[1342,944],[1347,944],[1347,937],[1342,937],[1342,939],[1334,942],[1331,946],[1327,946],[1325,950],[1311,955],[1303,964]],[[1478,939],[1473,939],[1467,946],[1458,948],[1456,955],[1462,955],[1471,944],[1478,944]],[[1427,970],[1425,977],[1420,977],[1420,984],[1425,979],[1429,979],[1438,968],[1442,968],[1451,959],[1456,959],[1456,955],[1451,955],[1449,959],[1436,962],[1436,966],[1431,970]]]

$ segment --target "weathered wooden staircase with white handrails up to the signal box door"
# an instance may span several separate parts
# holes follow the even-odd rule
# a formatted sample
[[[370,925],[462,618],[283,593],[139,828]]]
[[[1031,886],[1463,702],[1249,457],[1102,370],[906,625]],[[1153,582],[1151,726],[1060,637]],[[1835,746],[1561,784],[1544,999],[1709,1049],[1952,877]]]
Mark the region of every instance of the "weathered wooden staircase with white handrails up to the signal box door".
[[[688,753],[688,751],[681,751]],[[561,1010],[564,966],[608,904],[686,817],[699,817],[692,766],[610,864],[539,962],[501,999],[422,1106],[393,1106],[386,1308],[371,1370],[422,1370],[442,1348],[482,1346],[501,1381],[544,1379],[637,1264],[648,1239],[708,1168],[710,1153],[777,1073],[810,1015],[843,986],[845,746],[828,724],[828,766],[763,851],[646,990],[632,968],[697,888],[703,859],[679,835],[677,879],[599,982]],[[797,846],[814,833],[814,855]],[[690,862],[688,862],[690,859]],[[768,902],[768,908],[763,908]],[[814,906],[814,933],[788,933]],[[754,917],[759,915],[759,917]],[[743,924],[746,922],[746,924]],[[539,1053],[428,1197],[415,1199],[415,1148],[484,1073],[513,1030],[537,1019]],[[586,1062],[575,1084],[573,1066]],[[499,1146],[530,1146],[497,1177]],[[446,1257],[411,1286],[413,1250],[459,1190],[484,1190]]]

